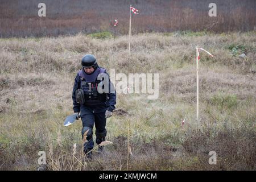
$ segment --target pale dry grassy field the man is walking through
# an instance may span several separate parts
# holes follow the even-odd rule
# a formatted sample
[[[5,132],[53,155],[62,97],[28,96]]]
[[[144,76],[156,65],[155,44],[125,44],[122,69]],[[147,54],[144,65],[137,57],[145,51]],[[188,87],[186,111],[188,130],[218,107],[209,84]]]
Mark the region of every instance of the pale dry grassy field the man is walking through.
[[[131,42],[129,56],[128,37],[108,32],[1,39],[0,169],[36,170],[43,150],[48,170],[125,170],[130,122],[130,170],[255,170],[256,32],[148,33]],[[214,55],[201,53],[199,122],[196,45]],[[93,160],[81,154],[81,121],[63,126],[85,53],[108,71],[159,73],[160,81],[157,100],[118,94],[107,119],[113,144]],[[209,151],[216,151],[216,165],[209,165]]]

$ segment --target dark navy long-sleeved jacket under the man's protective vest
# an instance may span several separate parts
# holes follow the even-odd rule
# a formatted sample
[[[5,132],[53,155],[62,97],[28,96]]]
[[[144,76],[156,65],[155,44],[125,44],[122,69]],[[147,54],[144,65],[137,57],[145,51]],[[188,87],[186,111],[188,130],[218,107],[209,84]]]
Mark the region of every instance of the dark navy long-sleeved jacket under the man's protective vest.
[[[105,73],[109,76],[108,72],[105,71]],[[77,73],[75,78],[75,83],[73,86],[73,92],[72,92],[72,99],[73,99],[73,110],[75,113],[80,112],[80,104],[76,102],[76,90],[80,88],[81,78],[79,76],[79,73]],[[109,77],[109,90],[110,85],[113,85],[110,81]],[[114,88],[114,87],[113,87]],[[107,93],[108,99],[104,104],[97,105],[97,106],[85,106],[88,107],[88,109],[92,109],[94,113],[101,113],[106,110],[113,111],[115,109],[116,104],[116,92],[114,93]]]

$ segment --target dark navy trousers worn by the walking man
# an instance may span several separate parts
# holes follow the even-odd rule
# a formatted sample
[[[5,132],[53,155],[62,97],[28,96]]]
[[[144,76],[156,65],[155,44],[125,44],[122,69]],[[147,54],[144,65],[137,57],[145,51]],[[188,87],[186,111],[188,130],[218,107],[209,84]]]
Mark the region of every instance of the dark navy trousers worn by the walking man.
[[[81,119],[82,119],[82,137],[86,131],[86,140],[84,143],[84,152],[88,152],[93,149],[93,126],[95,123],[96,128],[96,143],[100,144],[102,141],[105,141],[106,137],[106,118],[105,111],[101,113],[94,113],[94,109],[89,107],[81,106]]]

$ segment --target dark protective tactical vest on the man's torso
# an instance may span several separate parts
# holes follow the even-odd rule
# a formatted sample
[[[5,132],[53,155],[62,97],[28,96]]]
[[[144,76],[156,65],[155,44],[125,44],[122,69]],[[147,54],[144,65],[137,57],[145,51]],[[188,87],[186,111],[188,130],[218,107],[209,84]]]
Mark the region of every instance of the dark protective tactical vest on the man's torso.
[[[102,80],[97,80],[100,73],[104,73],[106,69],[96,68],[91,75],[87,75],[83,69],[79,71],[81,79],[80,89],[77,90],[76,100],[83,105],[99,105],[106,101],[106,93],[98,93],[98,85],[101,85]]]

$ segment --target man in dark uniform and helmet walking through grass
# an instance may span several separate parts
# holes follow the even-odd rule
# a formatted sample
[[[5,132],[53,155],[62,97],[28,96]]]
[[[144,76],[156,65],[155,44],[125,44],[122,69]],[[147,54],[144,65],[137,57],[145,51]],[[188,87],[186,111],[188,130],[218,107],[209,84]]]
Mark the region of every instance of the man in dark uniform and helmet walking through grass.
[[[93,55],[82,57],[82,69],[77,73],[73,86],[73,110],[82,119],[82,138],[86,133],[84,153],[91,157],[93,125],[96,127],[96,143],[105,141],[106,118],[111,117],[116,104],[116,92],[105,68],[97,64]],[[102,91],[103,90],[103,91]],[[98,148],[102,152],[103,146]]]

